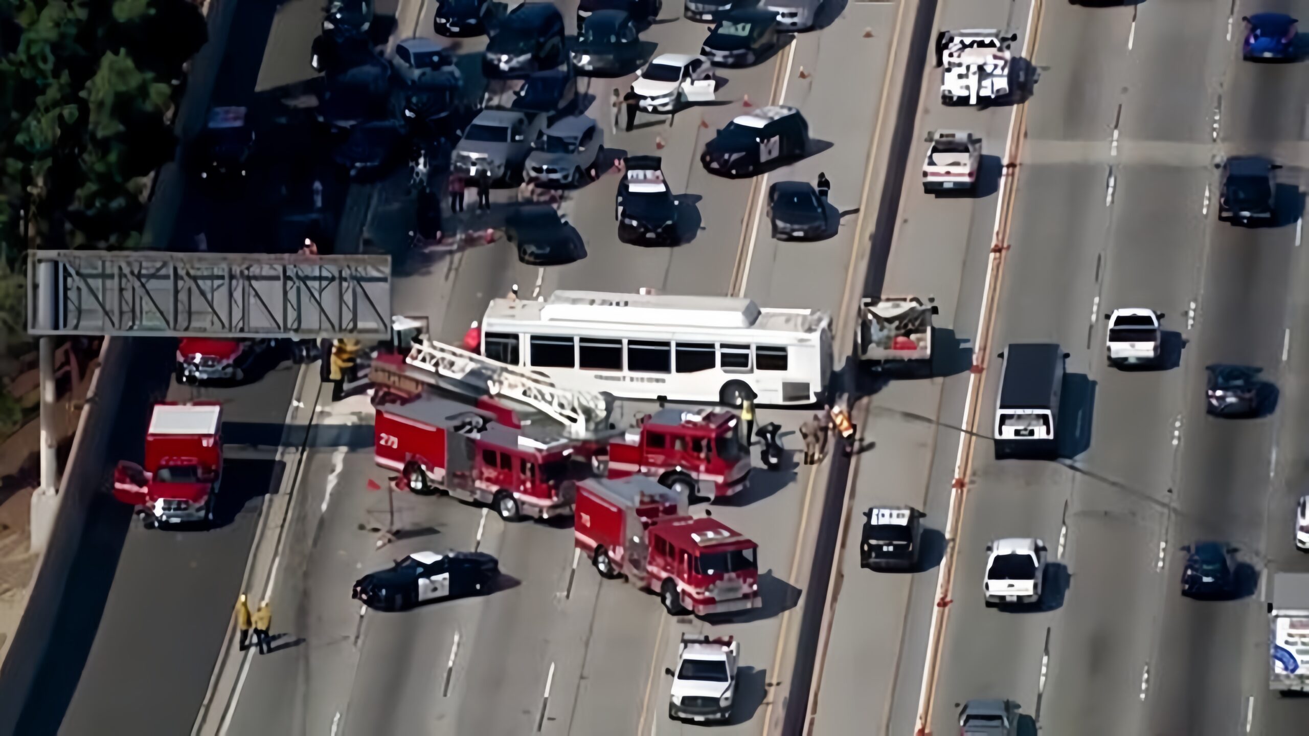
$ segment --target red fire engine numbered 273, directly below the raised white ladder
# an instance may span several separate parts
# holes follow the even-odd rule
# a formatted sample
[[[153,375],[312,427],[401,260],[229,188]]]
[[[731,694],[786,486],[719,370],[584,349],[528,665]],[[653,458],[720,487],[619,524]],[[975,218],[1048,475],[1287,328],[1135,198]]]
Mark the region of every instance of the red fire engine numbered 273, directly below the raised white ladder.
[[[499,420],[497,420],[499,419]],[[573,511],[579,443],[435,397],[377,407],[373,453],[408,490],[491,504],[505,520]]]

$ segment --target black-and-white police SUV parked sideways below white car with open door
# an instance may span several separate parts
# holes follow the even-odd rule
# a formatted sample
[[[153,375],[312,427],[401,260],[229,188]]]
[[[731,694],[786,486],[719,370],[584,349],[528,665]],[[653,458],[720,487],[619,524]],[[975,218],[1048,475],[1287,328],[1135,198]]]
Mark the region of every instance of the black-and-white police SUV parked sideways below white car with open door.
[[[809,123],[795,107],[759,107],[738,115],[704,144],[700,164],[720,177],[751,177],[802,158],[809,149]]]

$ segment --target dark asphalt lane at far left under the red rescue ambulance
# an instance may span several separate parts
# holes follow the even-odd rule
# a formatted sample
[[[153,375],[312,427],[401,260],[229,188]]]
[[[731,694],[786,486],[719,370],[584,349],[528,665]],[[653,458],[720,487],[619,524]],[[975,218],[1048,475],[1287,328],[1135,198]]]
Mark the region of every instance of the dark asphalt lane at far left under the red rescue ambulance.
[[[283,397],[289,396],[293,382],[293,372],[283,367],[240,389],[174,385],[168,399],[217,399],[224,405],[225,423],[280,426],[287,413]],[[127,457],[139,458],[144,430],[135,437]],[[260,496],[270,492],[281,473],[271,448],[251,452],[225,444],[224,453],[217,509],[221,525],[216,529],[148,530],[135,520],[123,528],[118,526],[122,524],[118,513],[94,517],[88,525],[88,538],[105,540],[115,529],[126,532],[126,538],[94,643],[67,712],[62,714],[60,732],[89,733],[106,724],[141,733],[179,733],[190,728],[236,600],[259,519]],[[86,553],[99,554],[96,549]],[[188,646],[178,647],[177,642]],[[130,677],[124,677],[124,667]],[[58,680],[42,677],[34,693],[46,688],[58,693]],[[141,711],[143,691],[157,694],[164,702],[149,712]]]

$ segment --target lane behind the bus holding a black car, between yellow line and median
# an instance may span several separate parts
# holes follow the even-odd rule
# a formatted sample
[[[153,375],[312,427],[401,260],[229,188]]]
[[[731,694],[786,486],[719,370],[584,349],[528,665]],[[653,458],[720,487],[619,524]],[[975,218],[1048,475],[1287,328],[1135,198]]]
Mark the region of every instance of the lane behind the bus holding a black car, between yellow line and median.
[[[846,275],[853,267],[852,249],[864,248],[856,227],[861,212],[865,169],[882,98],[894,5],[852,5],[831,28],[795,41],[795,59],[783,83],[783,103],[797,107],[809,122],[813,153],[761,177],[758,203],[746,212],[745,237],[754,253],[746,276],[746,295],[772,306],[817,308],[838,320],[843,308]],[[861,29],[872,29],[864,38]],[[808,79],[798,77],[805,69]],[[844,69],[865,69],[867,83],[851,94]],[[839,123],[838,123],[839,120]],[[838,217],[831,237],[821,242],[779,242],[772,238],[768,189],[784,181],[813,185],[825,173],[833,194],[825,204]],[[834,280],[834,276],[839,280]],[[857,282],[855,282],[857,283]],[[834,327],[835,329],[835,327]]]

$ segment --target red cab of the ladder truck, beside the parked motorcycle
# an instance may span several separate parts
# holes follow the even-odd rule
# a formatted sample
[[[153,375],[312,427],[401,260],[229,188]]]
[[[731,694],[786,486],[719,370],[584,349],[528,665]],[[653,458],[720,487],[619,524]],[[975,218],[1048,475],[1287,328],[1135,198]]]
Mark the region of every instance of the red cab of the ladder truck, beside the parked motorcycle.
[[[750,453],[730,411],[661,409],[609,443],[610,478],[649,475],[709,499],[749,487]]]

